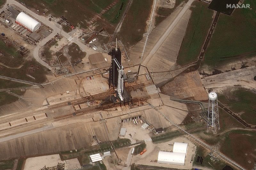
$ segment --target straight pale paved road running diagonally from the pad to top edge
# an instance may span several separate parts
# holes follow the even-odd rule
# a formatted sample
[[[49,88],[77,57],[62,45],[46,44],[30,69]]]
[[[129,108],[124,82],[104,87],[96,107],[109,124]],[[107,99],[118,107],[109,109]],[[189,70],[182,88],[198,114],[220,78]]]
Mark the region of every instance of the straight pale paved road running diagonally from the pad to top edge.
[[[195,0],[189,0],[187,4],[184,5],[180,13],[177,15],[177,17],[173,20],[172,24],[166,29],[162,37],[158,40],[158,42],[155,44],[155,46],[152,48],[152,50],[149,52],[148,56],[145,58],[145,60],[142,62],[142,65],[146,66],[149,60],[152,58],[152,56],[156,53],[156,51],[160,48],[164,40],[167,38],[167,36],[171,33],[173,28],[177,25],[177,23],[180,21],[184,13],[188,10],[192,2]]]

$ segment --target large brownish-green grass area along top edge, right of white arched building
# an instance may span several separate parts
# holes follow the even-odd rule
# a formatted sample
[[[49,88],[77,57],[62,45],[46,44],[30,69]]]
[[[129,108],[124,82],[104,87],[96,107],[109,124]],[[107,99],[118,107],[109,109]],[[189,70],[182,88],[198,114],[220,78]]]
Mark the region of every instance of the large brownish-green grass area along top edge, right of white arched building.
[[[26,6],[29,8],[34,8],[35,10],[40,10],[40,13],[43,13],[44,9],[47,9],[45,15],[52,13],[56,17],[64,16],[68,19],[72,25],[80,26],[82,28],[87,28],[91,25],[87,21],[91,20],[94,15],[106,10],[103,13],[102,17],[96,17],[96,20],[93,21],[94,23],[100,25],[100,29],[106,27],[106,29],[111,33],[114,31],[114,27],[111,24],[117,23],[121,15],[124,12],[125,5],[127,4],[127,0],[117,1],[115,5],[111,8],[107,9],[107,7],[112,4],[115,0],[76,0],[76,1],[69,1],[69,0],[20,0],[21,2],[25,3]],[[123,8],[119,11],[122,2]],[[35,11],[34,10],[34,11]],[[42,12],[41,12],[42,11]],[[116,19],[117,18],[117,19]],[[90,25],[89,25],[90,24]],[[64,28],[65,31],[68,31]],[[99,30],[95,30],[99,31]]]

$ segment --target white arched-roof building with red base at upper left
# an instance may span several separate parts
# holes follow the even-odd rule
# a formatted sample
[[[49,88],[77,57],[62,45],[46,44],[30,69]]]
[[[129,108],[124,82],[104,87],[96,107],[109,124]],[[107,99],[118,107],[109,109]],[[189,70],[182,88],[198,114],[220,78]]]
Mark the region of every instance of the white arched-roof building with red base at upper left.
[[[38,30],[42,26],[40,22],[28,16],[24,12],[19,13],[15,20],[15,23],[21,25],[22,27],[25,27],[31,32]]]

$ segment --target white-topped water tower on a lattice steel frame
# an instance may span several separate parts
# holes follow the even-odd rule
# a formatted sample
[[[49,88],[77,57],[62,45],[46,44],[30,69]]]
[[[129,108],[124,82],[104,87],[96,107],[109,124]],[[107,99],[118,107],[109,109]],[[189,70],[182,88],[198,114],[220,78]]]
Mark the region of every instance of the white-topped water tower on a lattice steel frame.
[[[216,134],[217,128],[220,129],[218,97],[215,92],[209,93],[207,132],[209,128],[212,128],[214,134]]]

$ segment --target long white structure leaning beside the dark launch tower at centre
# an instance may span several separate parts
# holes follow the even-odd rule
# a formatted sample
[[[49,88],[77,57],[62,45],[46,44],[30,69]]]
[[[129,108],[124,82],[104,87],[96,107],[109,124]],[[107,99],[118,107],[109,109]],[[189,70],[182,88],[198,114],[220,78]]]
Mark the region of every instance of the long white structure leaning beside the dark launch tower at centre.
[[[121,101],[124,101],[123,92],[124,92],[124,67],[121,66],[116,58],[113,59],[116,65],[118,66],[118,81],[117,81],[117,94]]]

